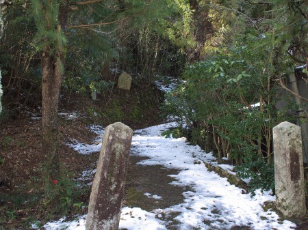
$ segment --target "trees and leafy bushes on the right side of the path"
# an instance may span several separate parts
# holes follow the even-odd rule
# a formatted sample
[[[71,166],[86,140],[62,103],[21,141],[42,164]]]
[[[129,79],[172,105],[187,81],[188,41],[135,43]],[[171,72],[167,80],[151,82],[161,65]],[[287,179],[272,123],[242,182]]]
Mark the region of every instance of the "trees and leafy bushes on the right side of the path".
[[[284,111],[276,104],[283,81],[307,59],[307,2],[191,3],[203,21],[195,27],[203,29],[195,31],[201,61],[185,68],[165,109],[190,126],[193,141],[240,165],[253,188],[274,188],[271,130],[296,121],[294,98]]]

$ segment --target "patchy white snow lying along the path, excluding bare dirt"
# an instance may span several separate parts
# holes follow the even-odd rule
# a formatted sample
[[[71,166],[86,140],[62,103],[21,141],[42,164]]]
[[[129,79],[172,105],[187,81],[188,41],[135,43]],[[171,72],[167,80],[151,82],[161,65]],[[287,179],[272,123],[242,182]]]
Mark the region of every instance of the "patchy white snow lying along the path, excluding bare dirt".
[[[272,210],[264,211],[265,201],[274,201],[270,192],[257,191],[254,197],[242,194],[227,179],[219,177],[214,172],[207,171],[202,161],[214,162],[215,158],[205,153],[198,145],[188,145],[185,138],[166,138],[161,132],[175,126],[175,123],[162,124],[134,132],[131,154],[146,156],[138,164],[160,164],[169,169],[177,169],[177,175],[172,182],[175,186],[186,186],[189,191],[183,192],[183,203],[152,212],[141,210],[140,207],[123,207],[120,217],[120,229],[168,229],[170,220],[162,218],[173,214],[178,222],[177,229],[231,229],[234,226],[249,226],[255,230],[294,229],[296,225],[288,220],[279,220]],[[99,128],[95,129],[96,131]],[[98,134],[99,132],[97,132]],[[77,146],[82,146],[78,148]],[[75,143],[81,154],[97,151],[97,143],[82,145]],[[92,149],[94,148],[94,149]],[[91,150],[92,149],[92,150]],[[227,169],[227,166],[222,166]],[[88,170],[88,169],[87,169]],[[88,172],[88,171],[87,171]],[[87,174],[87,173],[85,173]],[[152,199],[164,199],[164,195],[144,194]],[[49,222],[44,227],[48,229],[84,230],[86,215],[76,220],[66,222],[65,218]]]

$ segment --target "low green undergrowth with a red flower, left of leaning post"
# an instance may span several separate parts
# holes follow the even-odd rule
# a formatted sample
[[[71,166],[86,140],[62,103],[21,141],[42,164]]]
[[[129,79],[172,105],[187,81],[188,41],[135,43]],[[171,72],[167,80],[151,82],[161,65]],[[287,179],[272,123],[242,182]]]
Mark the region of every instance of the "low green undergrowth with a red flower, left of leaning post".
[[[44,177],[40,167],[31,180],[1,195],[0,226],[5,228],[0,229],[42,227],[54,218],[84,214],[89,195],[90,187],[79,185],[63,165],[60,179],[53,181]]]

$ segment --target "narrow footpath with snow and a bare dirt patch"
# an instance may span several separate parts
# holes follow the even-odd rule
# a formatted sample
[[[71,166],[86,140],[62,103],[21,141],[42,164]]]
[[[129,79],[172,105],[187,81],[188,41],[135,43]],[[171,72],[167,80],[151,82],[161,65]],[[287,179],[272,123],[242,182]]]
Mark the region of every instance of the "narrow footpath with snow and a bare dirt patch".
[[[264,203],[275,199],[270,192],[245,194],[207,171],[203,162],[216,164],[214,156],[185,138],[161,136],[172,126],[175,123],[134,132],[120,229],[296,229],[273,210],[264,210]],[[83,147],[88,153],[89,149],[91,145]],[[62,219],[44,227],[85,230],[85,219],[85,215],[73,222]]]

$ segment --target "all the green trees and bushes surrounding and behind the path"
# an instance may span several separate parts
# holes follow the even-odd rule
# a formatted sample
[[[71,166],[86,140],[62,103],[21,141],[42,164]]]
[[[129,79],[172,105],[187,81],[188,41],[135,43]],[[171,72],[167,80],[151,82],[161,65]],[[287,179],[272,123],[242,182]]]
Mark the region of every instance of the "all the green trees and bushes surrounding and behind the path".
[[[71,94],[106,92],[114,86],[111,70],[118,68],[135,73],[136,85],[153,82],[155,74],[183,72],[185,82],[164,105],[168,113],[192,124],[192,138],[207,151],[242,164],[243,177],[259,175],[259,169],[268,177],[271,128],[293,121],[290,111],[299,106],[275,108],[280,85],[307,61],[305,4],[14,1],[1,38],[1,119],[42,101],[42,154],[48,177],[56,179],[61,87]]]

